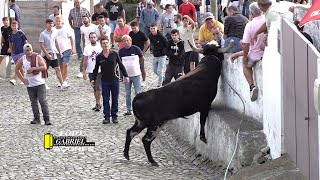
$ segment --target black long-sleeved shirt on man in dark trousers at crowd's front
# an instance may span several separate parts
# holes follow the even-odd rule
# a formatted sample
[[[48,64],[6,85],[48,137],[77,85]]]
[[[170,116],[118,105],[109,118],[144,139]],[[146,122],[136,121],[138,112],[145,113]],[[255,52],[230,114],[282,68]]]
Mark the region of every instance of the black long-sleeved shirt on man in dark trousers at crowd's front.
[[[110,50],[109,56],[105,57],[103,51],[96,57],[96,66],[93,70],[93,80],[96,80],[99,67],[101,67],[101,80],[112,82],[119,80],[119,68],[124,77],[128,77],[117,52]]]

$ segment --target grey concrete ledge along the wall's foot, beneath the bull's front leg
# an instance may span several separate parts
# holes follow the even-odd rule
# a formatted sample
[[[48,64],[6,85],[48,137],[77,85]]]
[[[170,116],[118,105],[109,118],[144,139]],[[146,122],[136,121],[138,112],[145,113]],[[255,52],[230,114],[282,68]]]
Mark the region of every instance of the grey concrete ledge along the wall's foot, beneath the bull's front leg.
[[[222,106],[213,106],[209,112],[205,133],[207,144],[200,141],[200,114],[196,113],[173,121],[175,133],[179,138],[194,145],[197,153],[212,161],[221,162],[227,166],[235,149],[236,135],[241,120],[241,114]],[[244,116],[240,126],[238,147],[232,163],[231,172],[237,172],[244,166],[250,166],[253,156],[267,146],[263,126],[259,121]]]

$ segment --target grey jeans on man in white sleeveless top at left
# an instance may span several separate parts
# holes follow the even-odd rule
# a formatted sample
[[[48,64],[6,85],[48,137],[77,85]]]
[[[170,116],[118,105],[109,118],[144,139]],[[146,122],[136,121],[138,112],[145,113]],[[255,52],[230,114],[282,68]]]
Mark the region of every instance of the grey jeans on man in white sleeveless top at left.
[[[35,87],[27,87],[29,99],[31,101],[31,108],[35,121],[40,121],[40,112],[38,107],[38,100],[41,106],[43,120],[49,121],[49,108],[46,99],[46,85],[42,84]]]

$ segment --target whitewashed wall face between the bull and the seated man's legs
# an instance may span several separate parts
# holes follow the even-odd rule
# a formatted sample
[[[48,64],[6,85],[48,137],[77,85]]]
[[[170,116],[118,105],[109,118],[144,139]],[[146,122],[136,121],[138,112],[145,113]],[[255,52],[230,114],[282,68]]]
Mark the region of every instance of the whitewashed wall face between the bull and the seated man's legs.
[[[240,56],[233,63],[229,59],[230,53],[225,54],[223,61],[223,69],[218,86],[217,97],[214,100],[215,104],[225,105],[229,108],[235,109],[239,112],[243,111],[243,105],[241,99],[236,92],[239,93],[245,104],[246,115],[253,117],[258,122],[263,121],[263,87],[262,87],[262,63],[261,61],[256,63],[253,68],[254,81],[256,87],[259,89],[258,99],[254,102],[250,100],[250,88],[244,77],[242,70],[242,56]],[[232,90],[232,88],[235,91]]]

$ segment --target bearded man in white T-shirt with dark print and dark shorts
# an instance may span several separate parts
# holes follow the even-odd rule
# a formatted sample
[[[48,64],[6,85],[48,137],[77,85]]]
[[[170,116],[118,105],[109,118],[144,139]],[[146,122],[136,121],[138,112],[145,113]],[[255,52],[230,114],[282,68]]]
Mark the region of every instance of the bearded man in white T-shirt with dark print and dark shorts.
[[[89,82],[93,79],[93,69],[96,65],[96,56],[102,51],[100,43],[97,43],[97,34],[91,32],[89,34],[90,44],[86,45],[83,50],[83,79],[87,80],[87,73],[89,74]],[[93,94],[96,99],[96,106],[92,110],[100,111],[101,109],[101,73],[99,72],[93,86]]]

